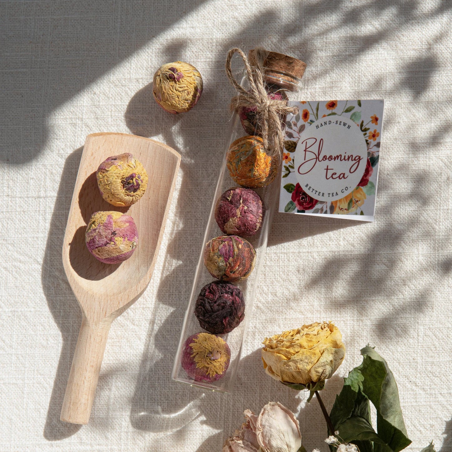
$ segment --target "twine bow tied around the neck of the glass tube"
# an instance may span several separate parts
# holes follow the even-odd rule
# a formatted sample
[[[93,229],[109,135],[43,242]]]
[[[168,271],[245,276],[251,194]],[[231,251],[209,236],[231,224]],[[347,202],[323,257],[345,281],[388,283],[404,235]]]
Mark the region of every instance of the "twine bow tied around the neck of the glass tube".
[[[244,64],[250,89],[247,91],[235,80],[231,71],[231,59],[238,53]],[[264,60],[268,51],[262,47],[255,49],[256,64],[251,66],[250,61],[239,48],[231,49],[226,58],[226,75],[239,94],[231,99],[231,109],[240,112],[241,108],[256,108],[256,119],[259,123],[264,151],[270,156],[281,158],[284,146],[284,134],[281,127],[281,118],[287,113],[297,113],[297,107],[288,107],[286,100],[270,99],[264,85]]]

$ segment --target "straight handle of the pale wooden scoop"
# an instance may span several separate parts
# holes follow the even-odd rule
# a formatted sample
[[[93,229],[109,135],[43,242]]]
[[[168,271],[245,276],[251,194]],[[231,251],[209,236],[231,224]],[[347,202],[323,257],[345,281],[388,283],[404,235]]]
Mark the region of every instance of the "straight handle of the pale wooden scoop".
[[[83,316],[61,408],[62,421],[88,424],[112,321],[92,323]]]

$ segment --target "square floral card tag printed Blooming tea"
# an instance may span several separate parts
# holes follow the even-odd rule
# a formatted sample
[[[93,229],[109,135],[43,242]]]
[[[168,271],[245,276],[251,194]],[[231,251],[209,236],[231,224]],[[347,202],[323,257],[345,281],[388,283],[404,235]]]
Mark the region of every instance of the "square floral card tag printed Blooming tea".
[[[384,101],[289,105],[279,212],[373,221]]]

